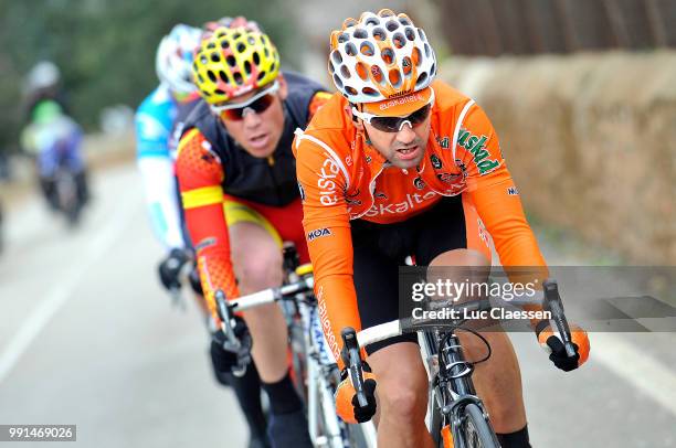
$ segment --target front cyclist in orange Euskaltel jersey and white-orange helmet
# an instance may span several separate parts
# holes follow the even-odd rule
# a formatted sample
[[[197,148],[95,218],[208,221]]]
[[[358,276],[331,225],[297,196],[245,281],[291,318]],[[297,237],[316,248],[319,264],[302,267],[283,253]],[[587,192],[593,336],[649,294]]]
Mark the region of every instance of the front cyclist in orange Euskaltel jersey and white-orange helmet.
[[[504,266],[547,269],[488,117],[434,81],[436,60],[424,31],[405,14],[365,12],[346,20],[330,43],[339,94],[297,131],[294,151],[315,292],[340,362],[341,329],[399,317],[398,269],[406,256],[419,265],[488,267],[493,237]],[[587,360],[584,331],[574,331],[579,353],[571,360],[548,322],[534,323],[557,366],[572,370]],[[514,349],[503,332],[483,335],[493,355],[476,366],[476,388],[503,447],[528,447]],[[482,358],[482,344],[460,337],[469,359]],[[378,384],[379,446],[432,447],[416,335],[366,352]],[[376,412],[374,404],[370,415],[350,403],[338,407],[348,420]]]

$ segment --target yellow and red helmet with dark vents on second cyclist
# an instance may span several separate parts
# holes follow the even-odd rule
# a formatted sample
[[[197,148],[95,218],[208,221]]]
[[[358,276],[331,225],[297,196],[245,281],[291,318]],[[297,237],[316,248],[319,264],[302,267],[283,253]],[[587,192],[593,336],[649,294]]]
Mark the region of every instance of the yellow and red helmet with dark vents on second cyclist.
[[[273,82],[279,54],[267,34],[251,26],[220,26],[202,41],[192,73],[200,96],[222,104]]]

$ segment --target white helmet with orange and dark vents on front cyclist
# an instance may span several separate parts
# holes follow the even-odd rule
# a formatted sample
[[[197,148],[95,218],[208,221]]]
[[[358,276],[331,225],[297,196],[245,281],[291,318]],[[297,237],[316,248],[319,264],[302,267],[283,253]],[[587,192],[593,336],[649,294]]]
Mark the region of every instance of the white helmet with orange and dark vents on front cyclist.
[[[427,87],[436,57],[424,31],[389,9],[347,19],[331,32],[328,70],[350,103],[376,103]]]

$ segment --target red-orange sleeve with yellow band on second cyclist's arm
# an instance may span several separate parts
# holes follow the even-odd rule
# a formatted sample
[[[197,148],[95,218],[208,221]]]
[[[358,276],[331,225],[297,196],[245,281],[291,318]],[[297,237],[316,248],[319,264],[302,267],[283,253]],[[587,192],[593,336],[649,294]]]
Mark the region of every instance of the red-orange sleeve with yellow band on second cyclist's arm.
[[[240,294],[223,212],[223,167],[198,129],[190,129],[181,138],[176,173],[204,298],[210,312],[216,317],[215,291],[221,289],[228,299]]]

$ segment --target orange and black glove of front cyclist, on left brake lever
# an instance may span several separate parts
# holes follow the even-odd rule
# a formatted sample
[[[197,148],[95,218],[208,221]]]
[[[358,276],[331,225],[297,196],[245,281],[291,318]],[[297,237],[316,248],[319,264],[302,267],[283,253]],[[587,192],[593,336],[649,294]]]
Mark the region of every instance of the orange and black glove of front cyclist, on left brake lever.
[[[371,373],[371,367],[363,363],[363,393],[367,398],[367,406],[359,406],[357,391],[352,386],[347,369],[342,371],[342,381],[336,390],[336,413],[344,422],[350,424],[366,423],[376,415],[376,376]]]

